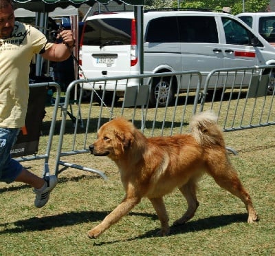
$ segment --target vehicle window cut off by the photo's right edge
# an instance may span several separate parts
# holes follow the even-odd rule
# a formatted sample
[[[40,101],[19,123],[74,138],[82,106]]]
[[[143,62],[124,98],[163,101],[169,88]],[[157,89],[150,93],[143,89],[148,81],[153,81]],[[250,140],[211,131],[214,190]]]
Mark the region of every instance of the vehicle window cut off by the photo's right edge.
[[[275,16],[260,17],[259,33],[267,42],[275,41]]]

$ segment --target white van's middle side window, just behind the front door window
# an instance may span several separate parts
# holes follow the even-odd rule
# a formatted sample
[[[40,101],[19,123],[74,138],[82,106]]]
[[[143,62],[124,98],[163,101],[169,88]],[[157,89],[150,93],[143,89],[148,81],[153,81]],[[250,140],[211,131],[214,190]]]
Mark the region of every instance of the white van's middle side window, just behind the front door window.
[[[178,17],[181,43],[219,43],[214,17]]]

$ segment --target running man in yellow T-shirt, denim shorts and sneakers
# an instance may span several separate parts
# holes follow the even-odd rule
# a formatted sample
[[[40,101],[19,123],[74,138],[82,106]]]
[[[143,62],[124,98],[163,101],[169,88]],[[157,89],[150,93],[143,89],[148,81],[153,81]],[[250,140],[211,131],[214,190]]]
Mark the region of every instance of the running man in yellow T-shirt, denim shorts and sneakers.
[[[12,0],[0,0],[0,181],[30,184],[36,207],[44,206],[56,186],[56,175],[40,178],[10,156],[25,116],[29,97],[30,62],[34,54],[50,61],[65,61],[75,40],[71,30],[59,34],[63,43],[49,43],[45,35],[14,19]]]

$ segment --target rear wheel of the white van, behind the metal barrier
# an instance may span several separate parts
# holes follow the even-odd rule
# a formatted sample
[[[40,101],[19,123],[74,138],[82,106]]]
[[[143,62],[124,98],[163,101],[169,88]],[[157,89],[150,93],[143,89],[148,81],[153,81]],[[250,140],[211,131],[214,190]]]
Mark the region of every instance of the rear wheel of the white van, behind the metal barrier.
[[[170,87],[170,76],[166,76],[163,78],[153,78],[152,89],[150,94],[150,104],[155,107],[158,105],[159,107],[165,107],[168,101],[168,105],[173,102],[175,96],[175,87],[173,83]],[[158,100],[158,102],[157,102]]]

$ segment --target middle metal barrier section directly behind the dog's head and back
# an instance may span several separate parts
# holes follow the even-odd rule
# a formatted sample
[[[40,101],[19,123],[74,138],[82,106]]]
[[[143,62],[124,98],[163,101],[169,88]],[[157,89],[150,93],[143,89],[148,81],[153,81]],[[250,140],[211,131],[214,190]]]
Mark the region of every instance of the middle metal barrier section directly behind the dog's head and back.
[[[164,107],[158,106],[158,95],[156,104],[153,107],[149,106],[148,97],[153,89],[153,78],[159,78],[160,81],[164,79],[169,81],[168,93],[172,90],[172,85],[175,83],[175,78],[177,78],[178,84],[184,83],[186,92],[181,93],[178,89],[173,104],[168,105],[167,103]],[[128,86],[129,79],[137,79],[137,81],[140,81],[140,85]],[[115,89],[111,97],[109,96],[107,98],[105,88],[110,81],[115,85],[121,81],[126,81],[123,100],[118,100],[117,102],[117,92]],[[89,83],[89,85],[91,85],[91,96],[87,103],[84,103],[83,100],[85,93],[83,83]],[[102,94],[100,95],[93,89],[98,83],[102,86]],[[76,91],[78,91],[79,100],[77,105],[72,105],[76,113],[76,119],[72,129],[72,123],[70,122],[68,124],[66,116],[70,103],[69,97],[75,87],[78,88]],[[188,127],[188,120],[190,120],[191,116],[195,114],[197,110],[200,87],[201,74],[197,71],[168,72],[131,77],[95,78],[72,82],[69,87],[67,87],[65,103],[62,108],[61,131],[56,154],[56,175],[68,167],[73,167],[83,171],[97,173],[102,178],[106,178],[101,171],[92,169],[91,167],[83,167],[63,159],[67,156],[89,153],[88,147],[91,142],[96,140],[96,132],[99,127],[113,117],[123,116],[131,120],[146,136],[170,136],[188,129],[186,128]],[[71,129],[69,136],[67,136],[65,132],[66,130],[68,131],[68,129]]]

